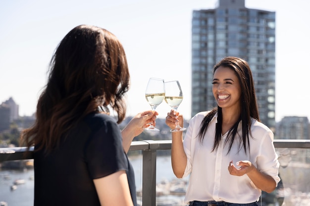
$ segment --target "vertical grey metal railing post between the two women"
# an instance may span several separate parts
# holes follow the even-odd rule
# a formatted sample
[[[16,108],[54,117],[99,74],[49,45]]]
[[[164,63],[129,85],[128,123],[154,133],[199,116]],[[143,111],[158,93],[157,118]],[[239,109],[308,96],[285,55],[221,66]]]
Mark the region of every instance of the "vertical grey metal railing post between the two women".
[[[156,150],[142,150],[142,206],[156,205]]]

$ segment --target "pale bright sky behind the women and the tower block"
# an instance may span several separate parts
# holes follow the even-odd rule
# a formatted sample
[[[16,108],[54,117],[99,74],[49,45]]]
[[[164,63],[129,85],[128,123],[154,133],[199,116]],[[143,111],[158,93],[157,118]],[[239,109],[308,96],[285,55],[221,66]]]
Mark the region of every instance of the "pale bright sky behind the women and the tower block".
[[[192,11],[212,9],[215,2],[1,0],[0,103],[13,97],[21,116],[32,115],[57,44],[75,26],[90,24],[109,30],[124,46],[131,74],[128,115],[151,109],[145,88],[150,77],[157,77],[179,80],[184,99],[178,110],[190,119]],[[276,12],[276,121],[310,119],[309,1],[245,2],[248,8]],[[163,102],[156,110],[164,118],[170,107]]]

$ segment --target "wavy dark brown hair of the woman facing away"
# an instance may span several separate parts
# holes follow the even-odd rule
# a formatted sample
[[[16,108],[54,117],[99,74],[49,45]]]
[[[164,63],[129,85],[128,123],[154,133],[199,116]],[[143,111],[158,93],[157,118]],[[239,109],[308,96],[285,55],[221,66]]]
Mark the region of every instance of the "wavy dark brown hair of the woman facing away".
[[[69,129],[87,114],[98,112],[98,107],[106,113],[112,108],[118,123],[122,122],[129,82],[125,51],[118,39],[99,27],[75,27],[55,50],[36,122],[22,132],[22,143],[39,144],[38,150],[50,152]]]

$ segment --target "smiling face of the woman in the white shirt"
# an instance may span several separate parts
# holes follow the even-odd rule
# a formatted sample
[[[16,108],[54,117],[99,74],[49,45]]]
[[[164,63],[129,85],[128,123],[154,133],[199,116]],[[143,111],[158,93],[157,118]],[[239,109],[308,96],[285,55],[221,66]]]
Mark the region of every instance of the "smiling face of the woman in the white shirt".
[[[229,67],[218,67],[213,75],[213,96],[222,109],[240,110],[241,87],[239,79]]]

